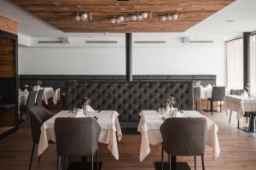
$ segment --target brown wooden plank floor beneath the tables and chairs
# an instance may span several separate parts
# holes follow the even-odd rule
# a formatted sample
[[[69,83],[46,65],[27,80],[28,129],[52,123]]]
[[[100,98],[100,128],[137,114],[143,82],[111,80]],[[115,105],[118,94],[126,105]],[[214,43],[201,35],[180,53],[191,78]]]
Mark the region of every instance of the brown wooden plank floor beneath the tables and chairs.
[[[207,147],[207,170],[255,170],[256,169],[256,134],[244,133],[238,130],[236,114],[233,114],[231,124],[229,116],[223,113],[207,113],[206,116],[218,124],[218,139],[221,154],[216,161],[212,160],[212,150]],[[241,120],[241,126],[245,120]],[[103,161],[102,169],[110,170],[150,170],[154,169],[153,162],[160,161],[160,145],[151,146],[149,156],[143,161],[138,161],[140,148],[139,134],[126,134],[119,142],[119,161],[114,160],[106,144],[100,145],[100,159]],[[27,124],[23,123],[20,130],[0,141],[0,169],[1,170],[26,170],[32,147],[30,131]],[[188,161],[193,166],[192,157],[178,157],[178,161]],[[200,157],[197,159],[197,169],[201,169]],[[56,169],[55,144],[44,152],[41,163],[38,165],[38,156],[34,156],[32,170]]]

